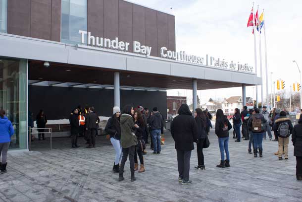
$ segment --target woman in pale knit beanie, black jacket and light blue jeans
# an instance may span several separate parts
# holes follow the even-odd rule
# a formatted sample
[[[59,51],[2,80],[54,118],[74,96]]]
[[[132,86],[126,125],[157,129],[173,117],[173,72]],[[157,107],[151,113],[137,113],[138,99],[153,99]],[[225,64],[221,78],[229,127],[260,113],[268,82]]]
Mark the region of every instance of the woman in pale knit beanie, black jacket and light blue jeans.
[[[120,162],[122,160],[122,146],[121,146],[121,126],[120,126],[121,110],[119,107],[113,107],[113,115],[109,118],[105,127],[105,132],[110,135],[111,144],[115,150],[115,159],[112,171],[119,172]]]

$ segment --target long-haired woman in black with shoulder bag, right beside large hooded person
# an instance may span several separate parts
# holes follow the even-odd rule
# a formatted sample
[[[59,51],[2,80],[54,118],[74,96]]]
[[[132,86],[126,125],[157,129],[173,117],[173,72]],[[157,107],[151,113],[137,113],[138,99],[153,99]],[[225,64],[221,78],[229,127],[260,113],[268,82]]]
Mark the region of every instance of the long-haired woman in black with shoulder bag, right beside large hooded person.
[[[201,109],[196,109],[194,112],[194,117],[195,121],[197,124],[198,132],[197,132],[197,138],[198,138],[198,143],[197,143],[197,157],[198,157],[198,166],[194,167],[195,169],[201,169],[204,170],[204,156],[202,152],[203,144],[206,138],[206,117],[204,112],[202,112]]]

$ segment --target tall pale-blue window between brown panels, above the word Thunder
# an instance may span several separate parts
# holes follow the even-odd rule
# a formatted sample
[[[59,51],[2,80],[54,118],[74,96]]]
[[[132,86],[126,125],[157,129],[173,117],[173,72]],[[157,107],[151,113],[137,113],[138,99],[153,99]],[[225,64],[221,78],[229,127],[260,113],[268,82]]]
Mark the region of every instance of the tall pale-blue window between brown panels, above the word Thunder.
[[[62,0],[61,42],[79,44],[79,30],[87,31],[87,0]]]

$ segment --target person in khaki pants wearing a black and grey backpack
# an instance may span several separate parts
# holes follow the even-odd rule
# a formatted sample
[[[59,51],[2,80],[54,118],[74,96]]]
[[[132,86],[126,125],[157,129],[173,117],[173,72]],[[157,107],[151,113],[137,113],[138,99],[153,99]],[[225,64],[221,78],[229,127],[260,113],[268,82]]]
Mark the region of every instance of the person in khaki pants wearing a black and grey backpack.
[[[293,124],[290,118],[286,117],[286,112],[280,112],[280,117],[275,121],[274,131],[277,131],[279,150],[278,157],[279,160],[282,160],[282,154],[284,153],[285,160],[288,160],[288,144],[290,135],[293,132]],[[284,149],[283,149],[284,147]]]

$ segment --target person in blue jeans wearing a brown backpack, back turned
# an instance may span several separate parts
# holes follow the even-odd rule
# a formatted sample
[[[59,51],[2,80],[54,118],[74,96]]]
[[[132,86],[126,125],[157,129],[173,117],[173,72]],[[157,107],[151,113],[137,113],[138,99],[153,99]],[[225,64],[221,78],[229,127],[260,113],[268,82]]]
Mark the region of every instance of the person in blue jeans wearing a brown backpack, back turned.
[[[262,157],[262,138],[265,133],[264,124],[266,123],[265,118],[262,114],[260,114],[259,108],[255,109],[254,115],[249,119],[249,130],[252,131],[253,136],[253,149],[254,149],[254,157],[257,157],[257,148],[259,148],[259,157]]]

